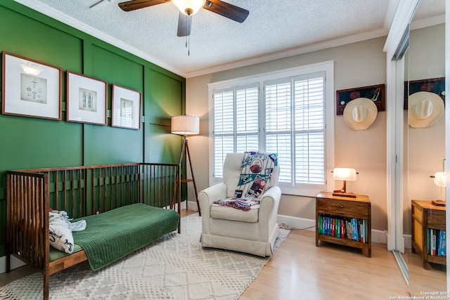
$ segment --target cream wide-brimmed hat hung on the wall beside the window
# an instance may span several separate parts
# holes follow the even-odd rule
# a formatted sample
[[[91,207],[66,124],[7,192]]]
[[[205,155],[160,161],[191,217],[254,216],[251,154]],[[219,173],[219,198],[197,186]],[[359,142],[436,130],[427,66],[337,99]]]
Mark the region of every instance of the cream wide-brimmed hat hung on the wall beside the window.
[[[351,100],[344,108],[344,122],[353,130],[368,129],[377,117],[377,105],[369,98]]]

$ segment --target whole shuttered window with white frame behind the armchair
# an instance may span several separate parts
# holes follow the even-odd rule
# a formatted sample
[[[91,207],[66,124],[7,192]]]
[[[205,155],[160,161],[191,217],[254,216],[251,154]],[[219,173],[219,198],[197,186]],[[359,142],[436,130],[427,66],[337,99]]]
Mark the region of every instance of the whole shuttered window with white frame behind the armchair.
[[[333,62],[210,84],[212,183],[221,181],[226,153],[260,150],[278,153],[283,193],[326,190],[333,90]]]

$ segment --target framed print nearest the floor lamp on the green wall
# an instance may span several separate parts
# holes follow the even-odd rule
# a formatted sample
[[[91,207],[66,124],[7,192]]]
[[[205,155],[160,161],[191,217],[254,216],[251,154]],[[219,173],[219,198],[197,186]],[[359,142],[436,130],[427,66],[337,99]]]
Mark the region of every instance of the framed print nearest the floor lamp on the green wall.
[[[141,92],[113,84],[111,126],[141,129]]]

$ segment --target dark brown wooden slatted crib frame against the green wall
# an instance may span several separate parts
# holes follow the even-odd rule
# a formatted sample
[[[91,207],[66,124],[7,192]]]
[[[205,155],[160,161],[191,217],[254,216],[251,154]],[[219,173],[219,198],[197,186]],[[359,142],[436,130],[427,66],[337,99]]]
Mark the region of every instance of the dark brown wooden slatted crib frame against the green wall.
[[[134,203],[162,210],[180,208],[179,164],[130,163],[25,169],[6,172],[6,271],[11,255],[49,276],[82,261],[84,250],[51,261],[49,210],[82,218]],[[173,216],[172,216],[173,218]],[[177,215],[180,232],[179,214]],[[169,233],[175,228],[167,228]],[[157,237],[158,238],[158,237]],[[75,244],[76,244],[75,240]]]

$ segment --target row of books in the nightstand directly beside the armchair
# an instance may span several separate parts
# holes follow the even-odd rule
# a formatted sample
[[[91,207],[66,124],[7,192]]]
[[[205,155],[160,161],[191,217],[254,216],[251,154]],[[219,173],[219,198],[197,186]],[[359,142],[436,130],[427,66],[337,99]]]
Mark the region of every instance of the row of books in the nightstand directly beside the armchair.
[[[341,239],[367,242],[368,222],[366,219],[346,218],[329,214],[319,214],[317,232]]]

